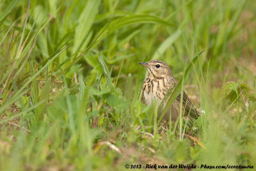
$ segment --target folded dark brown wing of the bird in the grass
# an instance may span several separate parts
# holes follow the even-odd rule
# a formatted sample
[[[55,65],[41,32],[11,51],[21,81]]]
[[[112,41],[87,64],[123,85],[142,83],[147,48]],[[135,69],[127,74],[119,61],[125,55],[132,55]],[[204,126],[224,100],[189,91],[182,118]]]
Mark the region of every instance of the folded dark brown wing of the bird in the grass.
[[[177,96],[176,100],[180,102],[180,94]],[[200,115],[196,111],[196,109],[193,107],[192,102],[189,100],[188,95],[183,91],[183,101],[182,101],[183,107],[185,107],[186,113],[189,114],[194,119],[197,119]]]

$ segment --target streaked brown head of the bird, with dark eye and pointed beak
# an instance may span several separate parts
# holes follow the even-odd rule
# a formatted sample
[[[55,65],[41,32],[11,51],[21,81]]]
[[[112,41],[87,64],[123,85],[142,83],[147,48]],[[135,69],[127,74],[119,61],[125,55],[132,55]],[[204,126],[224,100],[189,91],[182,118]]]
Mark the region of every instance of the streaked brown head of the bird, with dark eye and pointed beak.
[[[170,70],[168,64],[159,60],[148,61],[147,63],[139,63],[143,66],[146,66],[148,69],[149,77],[168,77],[172,75],[172,71]]]

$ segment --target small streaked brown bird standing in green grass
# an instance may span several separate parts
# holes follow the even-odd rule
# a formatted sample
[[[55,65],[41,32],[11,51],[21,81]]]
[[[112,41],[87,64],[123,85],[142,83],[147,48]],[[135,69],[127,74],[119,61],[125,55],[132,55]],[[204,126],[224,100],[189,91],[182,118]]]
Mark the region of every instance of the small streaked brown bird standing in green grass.
[[[148,77],[145,79],[142,87],[145,103],[150,105],[153,99],[157,100],[158,98],[159,106],[170,87],[175,87],[178,81],[173,77],[169,66],[163,61],[152,60],[147,63],[140,64],[148,69]],[[168,100],[166,100],[166,102],[167,101]],[[164,107],[166,102],[164,103]],[[173,101],[169,112],[166,112],[164,115],[164,120],[170,120],[170,111],[172,121],[176,121],[180,114],[180,94],[177,96],[176,100]],[[161,113],[162,112],[163,109]],[[184,115],[189,114],[189,116],[194,119],[197,119],[199,116],[185,92],[183,93],[182,112],[184,112]],[[160,117],[160,115],[161,114],[158,114],[158,117]]]

